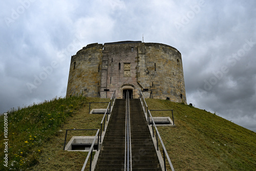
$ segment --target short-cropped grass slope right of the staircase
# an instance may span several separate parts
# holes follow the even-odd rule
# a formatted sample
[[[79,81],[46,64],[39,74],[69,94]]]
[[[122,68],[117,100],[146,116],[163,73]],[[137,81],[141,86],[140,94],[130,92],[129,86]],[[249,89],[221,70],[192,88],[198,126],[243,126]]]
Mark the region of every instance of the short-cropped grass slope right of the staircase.
[[[176,127],[158,130],[175,170],[256,170],[256,133],[193,106],[158,99],[146,102],[149,110],[174,110]]]

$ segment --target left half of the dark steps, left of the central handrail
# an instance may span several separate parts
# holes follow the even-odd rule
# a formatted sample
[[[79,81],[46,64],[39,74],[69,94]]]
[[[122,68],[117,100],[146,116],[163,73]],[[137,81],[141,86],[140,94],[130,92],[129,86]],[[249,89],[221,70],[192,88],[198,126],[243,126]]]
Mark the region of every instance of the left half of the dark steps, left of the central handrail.
[[[125,99],[116,99],[94,170],[123,170],[125,148]]]

